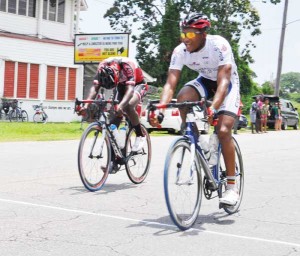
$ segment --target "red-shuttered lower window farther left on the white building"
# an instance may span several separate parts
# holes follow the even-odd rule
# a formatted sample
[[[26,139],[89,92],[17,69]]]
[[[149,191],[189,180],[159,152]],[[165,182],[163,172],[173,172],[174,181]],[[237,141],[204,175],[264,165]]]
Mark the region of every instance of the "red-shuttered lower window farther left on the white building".
[[[38,99],[38,64],[5,61],[4,97]]]

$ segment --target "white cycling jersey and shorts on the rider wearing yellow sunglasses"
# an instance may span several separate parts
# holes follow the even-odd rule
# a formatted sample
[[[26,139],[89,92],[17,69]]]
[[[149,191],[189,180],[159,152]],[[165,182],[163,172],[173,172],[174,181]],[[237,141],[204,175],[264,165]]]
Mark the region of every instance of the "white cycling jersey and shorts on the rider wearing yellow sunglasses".
[[[199,76],[186,83],[185,86],[192,86],[199,92],[200,97],[208,98],[208,91],[211,84],[217,81],[219,66],[231,64],[231,83],[227,96],[219,108],[219,112],[231,112],[237,114],[240,104],[239,77],[234,61],[231,46],[228,41],[217,35],[207,35],[205,46],[198,52],[190,53],[186,50],[184,43],[178,45],[172,54],[170,69],[182,70],[183,66],[195,70]],[[207,81],[212,83],[207,83]],[[217,86],[217,85],[216,85]],[[214,88],[215,90],[216,88]]]

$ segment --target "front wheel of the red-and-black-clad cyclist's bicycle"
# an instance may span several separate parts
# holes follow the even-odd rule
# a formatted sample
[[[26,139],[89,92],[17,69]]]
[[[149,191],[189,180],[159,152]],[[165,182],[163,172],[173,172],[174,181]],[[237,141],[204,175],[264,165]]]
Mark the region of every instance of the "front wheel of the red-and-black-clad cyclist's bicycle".
[[[111,146],[98,122],[91,123],[82,134],[78,148],[80,179],[89,191],[102,188],[109,174]]]

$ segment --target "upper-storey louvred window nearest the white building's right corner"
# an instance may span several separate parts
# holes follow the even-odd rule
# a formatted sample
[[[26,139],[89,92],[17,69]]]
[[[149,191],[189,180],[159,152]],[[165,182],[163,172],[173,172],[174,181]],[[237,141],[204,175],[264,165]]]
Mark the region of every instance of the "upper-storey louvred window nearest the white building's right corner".
[[[43,19],[64,23],[65,0],[44,0]]]

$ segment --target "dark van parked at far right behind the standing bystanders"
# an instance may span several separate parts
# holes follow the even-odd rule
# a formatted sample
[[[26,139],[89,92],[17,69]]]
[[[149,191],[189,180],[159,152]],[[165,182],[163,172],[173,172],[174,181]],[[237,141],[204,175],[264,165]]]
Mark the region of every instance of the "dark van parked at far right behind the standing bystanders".
[[[259,95],[254,96],[256,98]],[[275,113],[272,111],[272,107],[275,102],[281,103],[281,115],[282,115],[282,130],[286,130],[288,127],[299,129],[299,114],[297,108],[295,108],[291,101],[279,98],[274,95],[262,95],[263,100],[268,98],[270,101],[270,117],[268,118],[267,125],[269,128],[274,128],[275,125]]]

